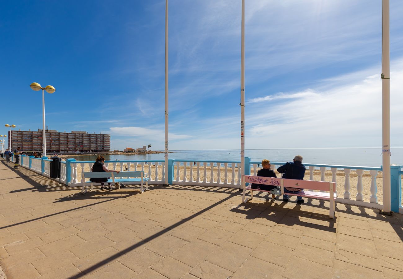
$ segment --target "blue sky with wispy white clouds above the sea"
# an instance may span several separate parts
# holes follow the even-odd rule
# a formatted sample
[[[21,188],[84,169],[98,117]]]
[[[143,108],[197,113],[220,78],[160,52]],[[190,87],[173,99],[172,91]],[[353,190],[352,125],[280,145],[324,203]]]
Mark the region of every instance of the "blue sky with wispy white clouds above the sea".
[[[381,1],[246,0],[245,147],[380,147]],[[403,2],[391,1],[402,147]],[[165,1],[2,1],[4,124],[164,148]],[[170,149],[239,149],[241,1],[170,0]],[[15,106],[18,105],[18,113]],[[6,129],[0,133],[6,133]]]

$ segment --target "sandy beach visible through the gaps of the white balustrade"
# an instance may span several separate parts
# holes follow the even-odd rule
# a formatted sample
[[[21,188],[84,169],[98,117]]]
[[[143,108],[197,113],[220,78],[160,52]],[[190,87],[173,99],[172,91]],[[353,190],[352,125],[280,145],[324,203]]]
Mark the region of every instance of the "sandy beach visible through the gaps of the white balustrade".
[[[126,163],[123,163],[123,170],[125,171],[126,169]],[[155,166],[151,165],[151,177],[152,179],[154,179],[155,177]],[[109,169],[113,169],[113,165],[112,163],[109,163],[108,166]],[[187,181],[189,181],[190,179],[190,167],[189,165],[186,167],[186,179]],[[116,164],[116,170],[120,171],[120,163],[117,162]],[[89,171],[89,167],[88,164],[85,165],[85,171]],[[131,171],[134,171],[134,166],[133,164],[131,165]],[[137,171],[141,171],[141,165],[138,164],[137,165]],[[197,167],[192,167],[192,171],[193,171],[193,181],[196,181],[197,178]],[[224,182],[224,167],[220,168],[220,179],[221,182]],[[149,165],[145,164],[144,165],[144,172],[148,173],[149,172]],[[204,179],[204,167],[200,167],[199,169],[200,172],[200,181],[203,181]],[[207,177],[207,181],[210,181],[211,179],[211,168],[209,166],[206,167],[206,177]],[[217,167],[213,167],[213,173],[214,173],[214,181],[217,180],[217,173],[218,173],[218,168]],[[280,174],[277,172],[277,169],[275,169],[275,173],[277,175],[277,177],[280,177]],[[253,169],[251,169],[251,174],[253,174]],[[177,177],[177,166],[174,166],[174,180]],[[238,181],[238,170],[235,168],[235,181]],[[310,178],[310,171],[307,170],[305,172],[305,180],[309,180]],[[77,179],[81,179],[81,166],[77,167]],[[162,166],[158,165],[158,179],[162,179]],[[232,179],[232,168],[228,168],[228,181],[231,182]],[[321,179],[321,173],[320,170],[315,170],[314,171],[314,180],[315,181],[320,181]],[[183,180],[183,166],[179,166],[179,180],[182,181]],[[332,173],[330,170],[327,170],[325,173],[325,181],[332,181]],[[403,179],[402,179],[403,181]],[[358,175],[357,173],[355,173],[355,171],[351,171],[350,174],[350,194],[351,194],[351,199],[355,200],[355,196],[357,195],[357,182],[358,182]],[[186,182],[184,182],[185,184]],[[345,174],[343,170],[339,170],[337,171],[337,175],[336,175],[336,183],[337,183],[337,194],[339,196],[339,198],[343,198],[344,196],[344,184],[345,184]],[[371,191],[370,191],[370,187],[371,187],[371,176],[369,171],[364,171],[364,175],[362,178],[362,183],[363,183],[363,195],[364,195],[364,201],[369,202],[370,200],[370,196],[371,196]],[[378,203],[382,204],[382,172],[378,172],[378,175],[376,176],[376,185],[378,187],[378,193],[376,193],[376,195],[378,196]],[[224,185],[222,185],[224,187]],[[403,196],[403,195],[402,195]]]

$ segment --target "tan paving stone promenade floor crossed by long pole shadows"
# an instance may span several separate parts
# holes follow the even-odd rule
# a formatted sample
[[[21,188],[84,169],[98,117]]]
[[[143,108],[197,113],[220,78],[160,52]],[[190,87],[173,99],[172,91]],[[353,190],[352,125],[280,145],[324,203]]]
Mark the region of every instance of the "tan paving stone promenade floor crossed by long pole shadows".
[[[0,264],[12,278],[403,278],[403,216],[328,202],[247,204],[220,187],[86,195],[0,161]]]

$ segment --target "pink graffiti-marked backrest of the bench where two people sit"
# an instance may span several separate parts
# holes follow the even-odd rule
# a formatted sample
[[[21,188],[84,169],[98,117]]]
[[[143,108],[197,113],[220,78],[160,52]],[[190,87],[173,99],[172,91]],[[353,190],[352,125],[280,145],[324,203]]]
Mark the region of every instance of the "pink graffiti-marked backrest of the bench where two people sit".
[[[313,181],[313,180],[298,180],[276,177],[262,177],[253,175],[242,175],[246,183],[256,183],[264,185],[280,186],[283,182],[284,187],[312,189],[329,192],[330,183],[333,184],[333,189],[336,189],[336,183],[326,181]]]

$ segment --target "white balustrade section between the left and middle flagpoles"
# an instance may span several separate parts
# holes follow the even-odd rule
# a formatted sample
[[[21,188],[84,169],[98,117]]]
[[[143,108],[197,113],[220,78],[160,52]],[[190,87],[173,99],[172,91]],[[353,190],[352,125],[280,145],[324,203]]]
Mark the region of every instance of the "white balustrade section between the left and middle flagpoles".
[[[239,173],[239,162],[175,159],[172,184],[239,188],[241,182],[239,175],[235,180],[235,168]]]

